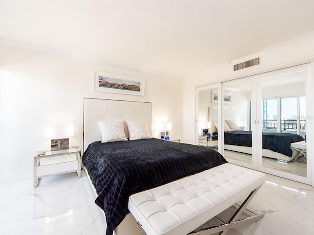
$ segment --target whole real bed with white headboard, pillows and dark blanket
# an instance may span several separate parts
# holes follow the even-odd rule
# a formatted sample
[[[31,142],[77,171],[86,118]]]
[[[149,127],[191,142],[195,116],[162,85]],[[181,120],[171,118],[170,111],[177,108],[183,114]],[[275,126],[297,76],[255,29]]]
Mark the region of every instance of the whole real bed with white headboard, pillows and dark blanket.
[[[106,141],[101,123],[111,131],[119,125],[127,140],[118,135],[121,141]],[[133,128],[144,123],[145,130]],[[151,134],[151,103],[84,98],[82,161],[97,194],[95,202],[105,211],[106,235],[145,234],[129,213],[130,195],[227,163],[210,148],[154,139]]]

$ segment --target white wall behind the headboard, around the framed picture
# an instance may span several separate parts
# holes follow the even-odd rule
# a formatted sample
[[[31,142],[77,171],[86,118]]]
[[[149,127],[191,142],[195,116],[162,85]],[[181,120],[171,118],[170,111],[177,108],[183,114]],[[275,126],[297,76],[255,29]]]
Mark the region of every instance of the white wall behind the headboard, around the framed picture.
[[[94,71],[145,78],[145,96],[94,92]],[[172,122],[183,137],[182,78],[0,47],[0,183],[31,178],[33,156],[50,149],[44,128],[73,124],[70,145],[82,149],[83,97],[152,102],[153,122]],[[158,132],[153,132],[158,138]]]

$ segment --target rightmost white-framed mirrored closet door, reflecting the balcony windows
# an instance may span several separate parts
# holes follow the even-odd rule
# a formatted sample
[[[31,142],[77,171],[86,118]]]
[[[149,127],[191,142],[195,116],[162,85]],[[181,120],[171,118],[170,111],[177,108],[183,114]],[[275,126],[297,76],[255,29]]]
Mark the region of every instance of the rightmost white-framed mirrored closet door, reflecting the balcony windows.
[[[260,74],[262,156],[259,168],[310,183],[306,134],[307,66]]]

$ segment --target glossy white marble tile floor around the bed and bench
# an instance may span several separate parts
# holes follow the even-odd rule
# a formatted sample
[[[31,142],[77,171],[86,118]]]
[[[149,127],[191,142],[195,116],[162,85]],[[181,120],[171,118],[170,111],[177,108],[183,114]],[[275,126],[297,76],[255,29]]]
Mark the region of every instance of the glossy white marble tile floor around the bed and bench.
[[[0,233],[3,235],[104,235],[105,219],[82,172],[0,184]],[[264,211],[255,223],[228,235],[313,235],[314,188],[267,175],[249,204]]]

